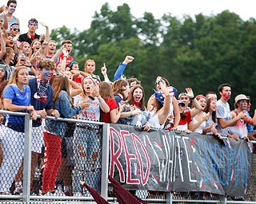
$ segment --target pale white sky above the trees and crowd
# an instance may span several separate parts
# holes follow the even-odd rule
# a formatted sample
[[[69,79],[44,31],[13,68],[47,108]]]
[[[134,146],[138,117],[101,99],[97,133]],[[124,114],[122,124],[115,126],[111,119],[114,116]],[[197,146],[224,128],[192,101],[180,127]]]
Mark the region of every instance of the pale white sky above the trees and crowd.
[[[7,2],[7,0],[6,0]],[[216,15],[223,10],[238,14],[243,20],[256,18],[256,1],[254,0],[17,0],[18,5],[14,16],[19,18],[21,33],[27,32],[27,22],[30,18],[45,22],[50,30],[62,26],[80,31],[90,28],[95,11],[100,12],[106,2],[110,10],[117,10],[117,6],[127,3],[130,13],[135,18],[141,18],[145,12],[150,12],[154,18],[161,18],[163,14],[170,13],[177,18],[183,14]],[[45,33],[46,29],[38,26],[36,33]]]

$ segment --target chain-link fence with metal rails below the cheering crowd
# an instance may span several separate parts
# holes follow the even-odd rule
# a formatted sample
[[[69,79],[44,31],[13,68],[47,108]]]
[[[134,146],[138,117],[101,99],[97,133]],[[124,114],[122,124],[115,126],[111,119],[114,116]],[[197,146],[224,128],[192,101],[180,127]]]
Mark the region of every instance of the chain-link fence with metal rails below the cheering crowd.
[[[47,123],[32,123],[29,114],[5,112],[25,119],[25,132],[0,125],[2,163],[0,166],[0,203],[70,203],[94,201],[79,181],[85,181],[108,201],[117,202],[114,190],[107,182],[108,124],[82,120],[47,117]],[[8,116],[6,117],[8,120]],[[41,124],[42,125],[36,125]],[[33,124],[33,125],[32,125]],[[54,135],[50,126],[65,132],[63,138]],[[254,143],[256,145],[256,143]],[[255,203],[256,146],[250,185],[244,203]],[[1,156],[0,156],[1,158]],[[0,159],[1,160],[1,159]],[[130,190],[149,203],[232,203],[234,198],[202,192],[151,192]],[[238,201],[236,202],[238,203]]]

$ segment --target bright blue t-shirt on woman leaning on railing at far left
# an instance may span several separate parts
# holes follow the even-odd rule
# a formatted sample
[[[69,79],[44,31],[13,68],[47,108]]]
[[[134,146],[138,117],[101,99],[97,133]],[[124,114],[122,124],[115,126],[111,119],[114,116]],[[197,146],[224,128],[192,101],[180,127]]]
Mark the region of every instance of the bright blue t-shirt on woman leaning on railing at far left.
[[[23,86],[23,92],[18,88],[16,84],[10,84],[3,91],[3,99],[10,99],[12,104],[28,106],[30,104],[30,87]],[[18,112],[26,112],[21,110]],[[25,117],[10,115],[8,118],[8,128],[14,131],[24,132],[25,129]]]

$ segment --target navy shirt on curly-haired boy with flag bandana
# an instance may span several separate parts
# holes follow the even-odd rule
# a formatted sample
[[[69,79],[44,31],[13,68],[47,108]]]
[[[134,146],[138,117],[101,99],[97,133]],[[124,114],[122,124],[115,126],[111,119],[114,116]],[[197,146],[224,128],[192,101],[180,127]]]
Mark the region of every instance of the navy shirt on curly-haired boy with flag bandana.
[[[54,108],[54,90],[50,86],[50,84],[46,89],[46,92],[42,95],[42,97],[38,97],[38,95],[36,94],[38,92],[38,82],[36,78],[30,79],[29,86],[31,90],[31,105],[34,106],[34,110],[38,111],[43,110],[44,108],[46,110],[49,110]],[[41,124],[41,119],[33,120],[33,127],[38,127]]]

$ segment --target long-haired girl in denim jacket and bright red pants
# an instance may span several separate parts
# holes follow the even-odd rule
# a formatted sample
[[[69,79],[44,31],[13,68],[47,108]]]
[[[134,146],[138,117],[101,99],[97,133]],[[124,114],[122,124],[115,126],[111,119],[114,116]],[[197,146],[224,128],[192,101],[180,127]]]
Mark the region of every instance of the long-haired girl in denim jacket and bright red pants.
[[[67,77],[57,76],[51,80],[54,90],[54,108],[58,110],[60,117],[72,118],[86,108],[86,102],[82,101],[76,107],[71,102],[70,80]],[[58,120],[47,120],[43,128],[43,138],[46,144],[45,168],[42,175],[42,194],[54,191],[58,167],[62,159],[62,138],[65,136],[67,123]]]

